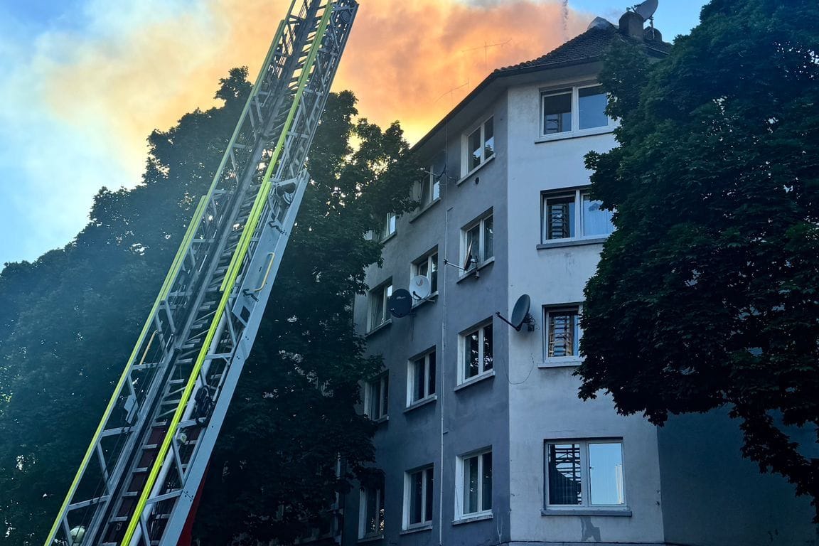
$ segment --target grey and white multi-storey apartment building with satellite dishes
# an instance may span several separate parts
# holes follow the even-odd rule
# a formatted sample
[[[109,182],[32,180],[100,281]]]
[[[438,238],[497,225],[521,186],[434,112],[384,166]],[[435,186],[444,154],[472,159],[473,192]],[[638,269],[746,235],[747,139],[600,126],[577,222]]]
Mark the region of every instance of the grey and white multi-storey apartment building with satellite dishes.
[[[817,544],[808,501],[740,457],[724,415],[658,429],[577,398],[583,288],[613,231],[583,157],[615,144],[596,79],[614,40],[669,48],[636,13],[598,18],[495,70],[416,145],[422,204],[384,219],[355,302],[386,364],[363,408],[384,477],[347,496],[342,544]],[[393,316],[419,276],[429,295]],[[518,331],[503,318],[523,295]]]

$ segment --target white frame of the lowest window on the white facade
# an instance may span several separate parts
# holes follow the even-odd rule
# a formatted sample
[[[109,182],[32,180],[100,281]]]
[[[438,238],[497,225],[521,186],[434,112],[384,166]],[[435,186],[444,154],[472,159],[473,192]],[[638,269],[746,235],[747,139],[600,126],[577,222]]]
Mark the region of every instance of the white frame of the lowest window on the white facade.
[[[580,498],[579,504],[550,504],[550,476],[549,476],[549,446],[558,444],[578,444],[580,446]],[[621,503],[617,504],[592,504],[590,501],[590,463],[589,463],[589,446],[594,444],[618,444],[620,446],[620,483],[618,484],[618,495],[622,499]],[[622,438],[593,438],[578,440],[575,438],[567,440],[545,440],[543,443],[543,467],[545,471],[543,483],[543,504],[546,510],[549,511],[577,511],[577,510],[614,510],[614,511],[628,511],[628,499],[626,497],[626,457],[625,449],[623,449]]]

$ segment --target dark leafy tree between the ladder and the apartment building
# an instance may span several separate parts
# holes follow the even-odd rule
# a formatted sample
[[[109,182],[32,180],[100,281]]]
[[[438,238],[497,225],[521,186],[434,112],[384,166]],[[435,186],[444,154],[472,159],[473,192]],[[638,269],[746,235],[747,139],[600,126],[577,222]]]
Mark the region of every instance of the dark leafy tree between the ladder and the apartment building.
[[[311,183],[210,460],[200,544],[290,544],[327,527],[335,495],[373,461],[373,425],[355,404],[358,382],[382,363],[364,355],[351,304],[381,259],[382,244],[364,236],[415,205],[419,166],[397,124],[382,131],[355,114],[351,93],[333,95],[316,133]]]

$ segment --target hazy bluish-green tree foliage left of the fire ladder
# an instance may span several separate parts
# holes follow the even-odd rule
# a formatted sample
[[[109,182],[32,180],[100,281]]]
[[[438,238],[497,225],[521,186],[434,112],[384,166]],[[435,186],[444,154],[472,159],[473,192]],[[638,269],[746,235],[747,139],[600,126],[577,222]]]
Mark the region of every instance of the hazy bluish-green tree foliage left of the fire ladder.
[[[51,528],[179,246],[191,195],[219,164],[246,75],[221,80],[224,106],[152,133],[143,183],[103,187],[75,241],[0,273],[0,515],[11,544],[42,544]]]

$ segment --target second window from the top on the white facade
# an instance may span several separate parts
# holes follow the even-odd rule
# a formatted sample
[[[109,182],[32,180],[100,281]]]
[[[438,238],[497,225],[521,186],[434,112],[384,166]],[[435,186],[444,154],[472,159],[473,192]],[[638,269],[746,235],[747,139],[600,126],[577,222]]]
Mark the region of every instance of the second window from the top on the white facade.
[[[600,204],[588,190],[543,194],[542,241],[608,236],[614,231],[613,213]]]

